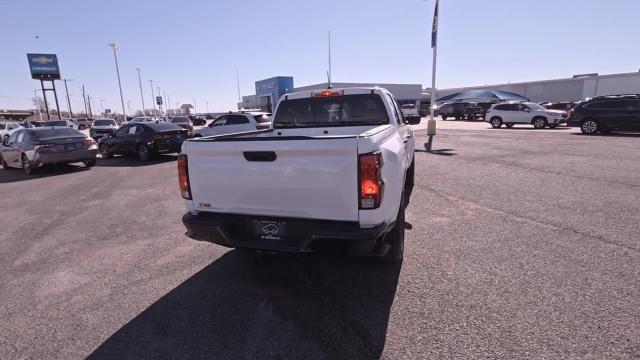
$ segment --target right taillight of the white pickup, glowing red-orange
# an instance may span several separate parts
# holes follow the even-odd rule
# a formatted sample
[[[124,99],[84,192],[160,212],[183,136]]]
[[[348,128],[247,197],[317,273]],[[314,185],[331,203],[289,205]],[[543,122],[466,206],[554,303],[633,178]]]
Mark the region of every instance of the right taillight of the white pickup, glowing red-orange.
[[[380,207],[384,182],[382,181],[382,154],[360,155],[360,209]]]

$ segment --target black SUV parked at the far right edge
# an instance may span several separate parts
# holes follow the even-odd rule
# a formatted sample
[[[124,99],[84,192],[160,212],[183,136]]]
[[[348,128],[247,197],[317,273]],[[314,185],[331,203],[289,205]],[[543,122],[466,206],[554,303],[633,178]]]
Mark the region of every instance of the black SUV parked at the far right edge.
[[[595,135],[612,130],[640,131],[640,95],[596,96],[576,105],[569,126]]]

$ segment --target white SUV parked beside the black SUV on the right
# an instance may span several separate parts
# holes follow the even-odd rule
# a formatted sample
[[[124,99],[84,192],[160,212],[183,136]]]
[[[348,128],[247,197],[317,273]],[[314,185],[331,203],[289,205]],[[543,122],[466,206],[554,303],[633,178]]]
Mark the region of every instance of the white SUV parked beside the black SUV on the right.
[[[507,127],[528,124],[536,129],[544,129],[546,126],[554,128],[567,122],[567,114],[564,111],[545,109],[532,102],[508,102],[492,105],[487,110],[485,121],[494,128],[499,128],[502,124]]]

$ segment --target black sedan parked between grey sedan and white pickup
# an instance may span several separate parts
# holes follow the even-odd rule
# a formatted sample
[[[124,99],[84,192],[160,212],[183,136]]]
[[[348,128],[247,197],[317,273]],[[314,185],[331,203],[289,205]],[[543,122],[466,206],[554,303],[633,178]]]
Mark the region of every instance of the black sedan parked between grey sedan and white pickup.
[[[100,140],[103,159],[114,154],[136,154],[140,160],[149,160],[158,153],[180,152],[187,130],[169,123],[128,123],[112,135]]]

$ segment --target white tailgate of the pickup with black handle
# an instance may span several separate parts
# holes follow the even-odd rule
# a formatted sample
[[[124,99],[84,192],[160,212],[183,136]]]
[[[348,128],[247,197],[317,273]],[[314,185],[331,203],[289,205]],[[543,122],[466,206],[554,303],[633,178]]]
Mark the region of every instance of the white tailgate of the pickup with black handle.
[[[357,137],[190,141],[187,154],[198,211],[358,221]]]

